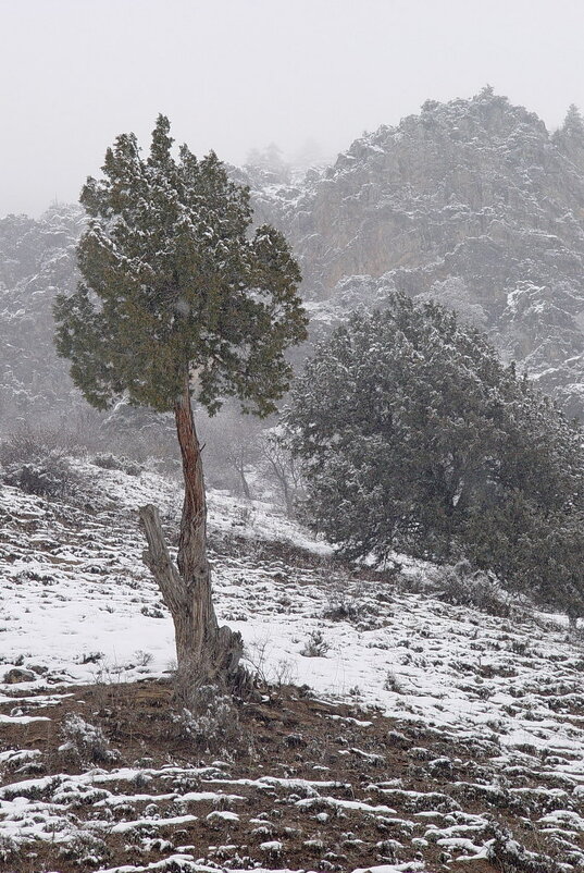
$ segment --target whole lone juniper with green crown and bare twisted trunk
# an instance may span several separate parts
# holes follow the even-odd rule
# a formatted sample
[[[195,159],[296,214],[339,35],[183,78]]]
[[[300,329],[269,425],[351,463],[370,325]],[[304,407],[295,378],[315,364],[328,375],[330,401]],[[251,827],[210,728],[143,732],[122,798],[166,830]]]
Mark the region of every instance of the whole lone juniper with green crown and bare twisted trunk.
[[[283,235],[250,231],[247,188],[214,152],[173,155],[160,115],[148,157],[134,134],[105,153],[80,202],[88,224],[77,248],[82,282],[55,304],[57,347],[75,384],[99,409],[125,396],[172,411],[185,497],[176,565],[158,511],[140,517],[151,569],[175,626],[179,667],[202,681],[238,669],[241,639],[219,627],[207,558],[207,505],[191,396],[211,415],[233,396],[259,416],[288,385],[287,346],[306,335],[300,273]]]

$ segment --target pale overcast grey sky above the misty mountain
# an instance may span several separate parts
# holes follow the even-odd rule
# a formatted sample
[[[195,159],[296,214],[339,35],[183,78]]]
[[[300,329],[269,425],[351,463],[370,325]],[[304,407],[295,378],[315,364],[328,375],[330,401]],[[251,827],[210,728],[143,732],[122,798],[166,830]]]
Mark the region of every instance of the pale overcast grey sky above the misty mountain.
[[[489,83],[584,109],[584,0],[0,0],[0,216],[76,200],[156,116],[197,155],[325,153]]]

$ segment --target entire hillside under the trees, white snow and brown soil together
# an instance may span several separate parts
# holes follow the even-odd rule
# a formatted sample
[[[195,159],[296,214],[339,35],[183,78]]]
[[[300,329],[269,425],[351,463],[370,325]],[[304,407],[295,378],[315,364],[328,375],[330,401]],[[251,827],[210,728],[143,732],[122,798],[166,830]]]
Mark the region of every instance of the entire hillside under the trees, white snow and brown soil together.
[[[1,870],[584,866],[584,651],[560,619],[452,605],[431,566],[351,573],[212,493],[218,612],[272,690],[194,726],[136,521],[152,501],[175,529],[177,490],[75,464],[75,505],[0,491]]]

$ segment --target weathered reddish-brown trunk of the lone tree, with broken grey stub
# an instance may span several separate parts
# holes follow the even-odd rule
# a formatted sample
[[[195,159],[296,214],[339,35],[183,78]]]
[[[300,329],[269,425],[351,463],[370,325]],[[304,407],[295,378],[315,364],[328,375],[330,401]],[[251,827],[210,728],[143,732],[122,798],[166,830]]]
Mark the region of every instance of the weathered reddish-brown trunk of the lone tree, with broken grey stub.
[[[228,627],[219,627],[213,608],[201,448],[195,430],[188,377],[183,395],[175,403],[174,417],[185,480],[176,566],[164,541],[158,509],[151,505],[140,509],[148,541],[144,561],[174,622],[178,668],[191,673],[196,684],[229,684],[239,671],[243,641],[241,636]]]

